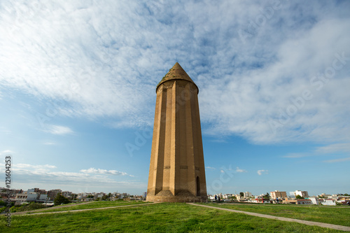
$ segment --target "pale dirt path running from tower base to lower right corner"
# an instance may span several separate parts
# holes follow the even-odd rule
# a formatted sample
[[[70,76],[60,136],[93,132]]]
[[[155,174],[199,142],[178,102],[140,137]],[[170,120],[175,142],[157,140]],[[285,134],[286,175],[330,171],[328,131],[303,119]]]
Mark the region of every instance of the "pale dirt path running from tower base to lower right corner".
[[[311,222],[311,221],[305,221],[305,220],[298,220],[294,218],[283,218],[283,217],[277,217],[277,216],[269,216],[267,214],[262,214],[262,213],[251,213],[251,212],[246,212],[246,211],[236,211],[233,209],[225,209],[225,208],[220,208],[220,207],[215,207],[215,206],[204,206],[200,204],[194,204],[194,203],[188,203],[193,206],[201,206],[201,207],[207,207],[211,209],[219,209],[221,211],[230,211],[230,212],[235,212],[235,213],[244,213],[249,216],[256,216],[260,218],[269,218],[269,219],[274,219],[274,220],[281,220],[281,221],[286,221],[286,222],[294,222],[294,223],[302,223],[305,225],[310,225],[310,226],[318,226],[318,227],[327,227],[335,230],[342,230],[346,232],[350,232],[350,227],[345,227],[341,225],[333,225],[333,224],[328,224],[328,223],[318,223],[318,222]]]

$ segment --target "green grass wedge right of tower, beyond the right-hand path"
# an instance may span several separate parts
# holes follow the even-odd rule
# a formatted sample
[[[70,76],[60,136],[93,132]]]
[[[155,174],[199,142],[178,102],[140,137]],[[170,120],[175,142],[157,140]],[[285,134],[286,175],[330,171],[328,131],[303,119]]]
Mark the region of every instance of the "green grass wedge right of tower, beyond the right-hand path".
[[[350,208],[343,206],[295,206],[288,204],[207,204],[237,211],[296,218],[350,227]]]

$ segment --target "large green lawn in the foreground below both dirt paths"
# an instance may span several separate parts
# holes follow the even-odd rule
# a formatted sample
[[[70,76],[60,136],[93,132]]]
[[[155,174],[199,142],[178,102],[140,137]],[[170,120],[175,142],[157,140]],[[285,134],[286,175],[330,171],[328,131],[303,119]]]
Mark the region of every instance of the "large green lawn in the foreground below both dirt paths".
[[[121,209],[0,218],[0,232],[340,232],[205,209],[188,204],[153,204]]]

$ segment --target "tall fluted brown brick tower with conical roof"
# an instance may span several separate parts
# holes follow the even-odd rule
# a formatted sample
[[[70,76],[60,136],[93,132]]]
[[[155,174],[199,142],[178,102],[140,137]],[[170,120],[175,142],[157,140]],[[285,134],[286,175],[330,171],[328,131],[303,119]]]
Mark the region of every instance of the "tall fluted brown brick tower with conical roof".
[[[177,62],[157,85],[148,202],[207,200],[198,92]]]

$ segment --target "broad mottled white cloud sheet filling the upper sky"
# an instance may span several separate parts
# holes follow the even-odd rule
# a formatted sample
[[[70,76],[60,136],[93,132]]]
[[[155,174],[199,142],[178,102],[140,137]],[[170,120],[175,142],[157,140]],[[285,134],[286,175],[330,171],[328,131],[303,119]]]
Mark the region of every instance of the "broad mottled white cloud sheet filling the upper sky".
[[[337,55],[350,57],[349,3],[274,4],[3,3],[0,85],[47,100],[45,115],[152,125],[155,85],[179,61],[200,87],[207,134],[350,141],[350,61],[337,62],[329,81],[311,82]],[[249,27],[266,7],[271,17]],[[298,102],[305,90],[312,98]]]

